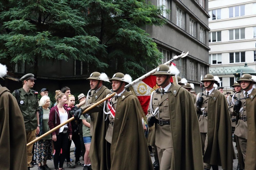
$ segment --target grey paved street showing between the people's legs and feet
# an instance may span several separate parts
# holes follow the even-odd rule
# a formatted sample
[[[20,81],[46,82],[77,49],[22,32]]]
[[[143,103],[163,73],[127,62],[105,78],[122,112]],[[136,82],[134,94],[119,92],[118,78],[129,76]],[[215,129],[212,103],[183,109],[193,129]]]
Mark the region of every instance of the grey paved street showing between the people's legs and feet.
[[[235,148],[235,145],[236,145],[236,144],[235,144],[234,142],[233,142],[233,145],[234,145],[235,153],[236,153],[236,155],[237,155],[237,150],[236,150],[236,148]],[[72,150],[74,150],[74,143],[73,143],[73,142],[72,142],[72,145],[71,145],[71,151],[72,151]],[[71,157],[71,159],[75,160],[74,152],[71,152],[71,153],[70,153],[70,157]],[[151,159],[152,159],[152,162],[155,161],[154,157],[151,157]],[[81,157],[80,161],[81,161],[82,163],[84,163],[83,160],[82,160],[82,157]],[[74,162],[72,162],[72,163],[75,164]],[[237,163],[238,163],[238,160],[235,159],[235,160],[234,160],[234,163],[233,163],[233,170],[236,170],[236,169],[237,169]],[[66,170],[70,169],[70,168],[67,168],[66,164],[67,164],[67,162],[64,162],[63,168],[65,168]],[[47,161],[47,165],[48,165],[49,168],[51,168],[52,170],[54,170],[53,160],[48,160],[48,161]],[[33,168],[30,168],[30,169],[31,169],[31,170],[37,170],[38,167],[33,167]],[[76,170],[83,170],[83,167],[76,166],[74,169],[76,169]],[[71,170],[71,169],[70,169],[70,170]],[[221,166],[219,166],[219,170],[222,170]]]

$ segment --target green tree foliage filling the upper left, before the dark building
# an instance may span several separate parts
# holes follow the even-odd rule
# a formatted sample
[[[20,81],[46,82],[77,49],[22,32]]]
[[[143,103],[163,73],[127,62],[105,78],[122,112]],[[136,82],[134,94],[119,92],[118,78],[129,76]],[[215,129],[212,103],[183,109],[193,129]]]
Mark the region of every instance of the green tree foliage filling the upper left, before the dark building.
[[[162,12],[144,0],[2,1],[0,59],[28,64],[36,58],[75,59],[100,71],[110,68],[109,75],[138,77],[162,57],[142,29],[165,24],[158,17]]]

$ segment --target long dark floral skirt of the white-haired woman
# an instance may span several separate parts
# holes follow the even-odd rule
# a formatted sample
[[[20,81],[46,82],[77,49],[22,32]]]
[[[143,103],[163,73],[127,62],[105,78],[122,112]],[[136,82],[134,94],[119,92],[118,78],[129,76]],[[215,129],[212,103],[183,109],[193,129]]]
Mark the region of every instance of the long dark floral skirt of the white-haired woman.
[[[45,162],[53,159],[53,145],[52,139],[39,140],[34,144],[34,160],[38,162]]]

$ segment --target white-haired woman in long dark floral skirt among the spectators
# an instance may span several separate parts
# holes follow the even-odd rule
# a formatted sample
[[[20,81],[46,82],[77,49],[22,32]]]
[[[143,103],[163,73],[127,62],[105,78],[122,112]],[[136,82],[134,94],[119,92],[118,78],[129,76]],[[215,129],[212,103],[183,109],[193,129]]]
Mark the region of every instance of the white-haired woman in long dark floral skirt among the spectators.
[[[39,101],[39,123],[40,123],[40,133],[37,137],[48,132],[48,119],[50,113],[50,98],[48,96],[43,96]],[[47,160],[52,160],[52,136],[51,134],[42,138],[34,144],[34,159],[39,163],[39,170],[51,170],[46,164]]]

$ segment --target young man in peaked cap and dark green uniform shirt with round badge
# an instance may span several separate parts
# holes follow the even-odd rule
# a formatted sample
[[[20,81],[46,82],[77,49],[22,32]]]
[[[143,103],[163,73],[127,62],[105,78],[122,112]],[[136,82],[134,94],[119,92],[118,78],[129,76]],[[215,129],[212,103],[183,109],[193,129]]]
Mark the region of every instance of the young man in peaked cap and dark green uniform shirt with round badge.
[[[39,106],[37,100],[38,92],[32,90],[34,86],[34,75],[29,73],[20,78],[22,81],[23,87],[15,90],[12,95],[16,97],[18,101],[18,105],[20,111],[22,112],[25,129],[26,129],[26,137],[27,143],[33,141],[35,139],[35,135],[39,134],[40,124],[39,124]],[[30,162],[32,160],[32,148],[33,145],[27,146],[27,161],[28,161],[28,169],[30,169]]]

